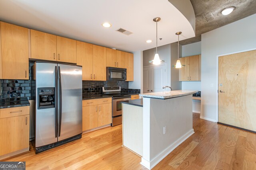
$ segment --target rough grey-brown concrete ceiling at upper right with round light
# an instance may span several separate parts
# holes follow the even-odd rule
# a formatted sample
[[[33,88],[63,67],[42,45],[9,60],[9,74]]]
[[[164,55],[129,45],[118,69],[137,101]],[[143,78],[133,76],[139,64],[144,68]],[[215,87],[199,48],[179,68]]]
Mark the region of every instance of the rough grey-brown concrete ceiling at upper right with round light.
[[[196,37],[180,41],[181,45],[201,41],[201,35],[234,21],[256,14],[256,0],[190,0],[196,16]],[[235,6],[229,15],[220,14],[221,10]]]

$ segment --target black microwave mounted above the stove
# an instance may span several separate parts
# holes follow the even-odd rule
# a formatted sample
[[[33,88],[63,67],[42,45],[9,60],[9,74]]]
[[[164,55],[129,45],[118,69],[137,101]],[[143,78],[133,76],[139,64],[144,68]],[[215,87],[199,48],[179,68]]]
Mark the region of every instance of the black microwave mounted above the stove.
[[[126,80],[126,68],[107,67],[107,80]]]

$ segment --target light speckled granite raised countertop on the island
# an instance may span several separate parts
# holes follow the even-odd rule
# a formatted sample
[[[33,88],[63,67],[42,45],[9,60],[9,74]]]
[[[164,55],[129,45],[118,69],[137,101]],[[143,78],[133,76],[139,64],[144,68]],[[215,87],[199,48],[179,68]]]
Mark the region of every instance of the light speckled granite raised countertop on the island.
[[[144,98],[170,99],[180,96],[187,96],[198,92],[198,90],[172,90],[167,92],[143,93],[140,96]]]

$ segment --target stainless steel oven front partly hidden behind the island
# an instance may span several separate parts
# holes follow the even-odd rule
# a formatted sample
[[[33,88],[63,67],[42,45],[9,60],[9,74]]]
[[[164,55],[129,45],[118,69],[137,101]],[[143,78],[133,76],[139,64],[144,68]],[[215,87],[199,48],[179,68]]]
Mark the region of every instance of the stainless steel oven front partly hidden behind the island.
[[[113,98],[112,104],[112,126],[122,124],[122,103],[131,100],[131,97],[126,96],[126,98]]]

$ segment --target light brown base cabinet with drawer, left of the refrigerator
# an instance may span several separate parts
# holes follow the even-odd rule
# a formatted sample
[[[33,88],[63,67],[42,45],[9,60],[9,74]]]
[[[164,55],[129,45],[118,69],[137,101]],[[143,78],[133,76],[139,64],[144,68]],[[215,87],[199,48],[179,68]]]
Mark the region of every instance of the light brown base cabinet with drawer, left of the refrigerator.
[[[0,109],[0,160],[29,150],[29,106]]]

